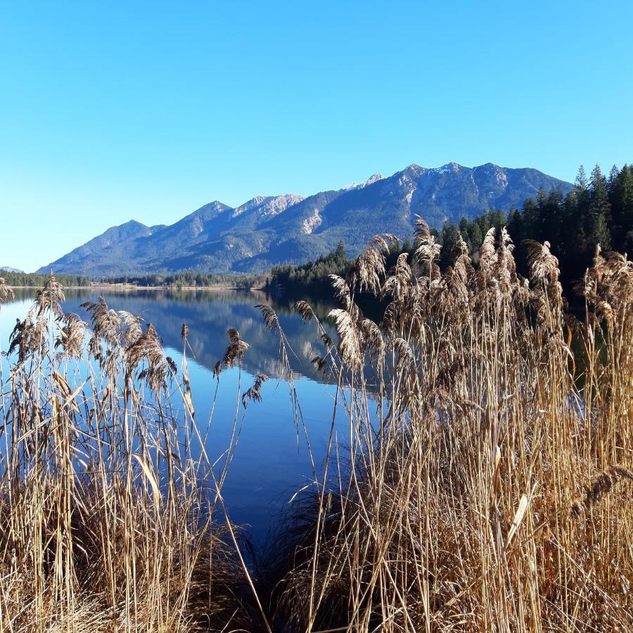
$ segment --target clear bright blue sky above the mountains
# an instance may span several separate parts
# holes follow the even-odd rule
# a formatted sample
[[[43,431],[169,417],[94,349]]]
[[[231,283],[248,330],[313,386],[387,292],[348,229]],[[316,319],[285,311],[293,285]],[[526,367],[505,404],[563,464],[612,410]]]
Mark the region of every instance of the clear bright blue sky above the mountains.
[[[632,25],[625,0],[5,2],[0,265],[411,162],[630,162]]]

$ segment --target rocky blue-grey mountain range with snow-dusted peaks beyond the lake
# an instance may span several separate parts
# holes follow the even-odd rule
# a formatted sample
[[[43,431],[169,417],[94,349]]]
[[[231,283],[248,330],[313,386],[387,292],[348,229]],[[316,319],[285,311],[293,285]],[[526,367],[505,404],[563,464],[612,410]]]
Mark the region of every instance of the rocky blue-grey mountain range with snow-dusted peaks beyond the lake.
[[[435,169],[409,165],[390,177],[307,198],[257,196],[238,207],[215,200],[175,224],[113,226],[68,255],[41,267],[96,277],[204,271],[257,272],[324,255],[343,240],[356,255],[376,234],[411,236],[415,216],[440,229],[490,209],[521,207],[539,189],[573,186],[538,170],[456,162]]]

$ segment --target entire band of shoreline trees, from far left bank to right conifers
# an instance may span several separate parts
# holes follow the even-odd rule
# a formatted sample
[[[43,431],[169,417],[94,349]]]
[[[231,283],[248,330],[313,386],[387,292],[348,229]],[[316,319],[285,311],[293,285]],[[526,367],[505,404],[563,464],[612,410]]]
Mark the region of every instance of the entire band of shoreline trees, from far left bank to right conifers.
[[[445,224],[440,231],[432,230],[442,245],[440,268],[452,263],[452,255],[459,236],[468,247],[473,264],[478,265],[479,250],[489,229],[499,231],[506,226],[516,245],[517,269],[528,275],[525,240],[549,241],[551,252],[558,257],[561,283],[565,289],[580,279],[592,264],[597,245],[603,251],[617,250],[633,256],[633,165],[613,167],[608,176],[596,165],[587,177],[580,167],[575,188],[563,196],[560,190],[540,190],[535,198],[523,203],[523,210],[512,207],[508,214],[501,210],[489,210],[474,219],[462,218],[459,224]],[[403,242],[393,245],[388,255],[387,267],[395,264],[398,255],[409,253],[409,265],[418,265],[414,256],[414,243],[405,236]],[[345,244],[339,241],[328,255],[299,265],[279,265],[262,274],[212,274],[185,271],[174,274],[126,275],[103,278],[102,283],[130,283],[143,287],[170,288],[283,288],[290,292],[309,288],[316,292],[330,293],[330,274],[345,276],[352,260],[347,256]],[[47,276],[40,274],[0,271],[8,286],[41,287]],[[90,286],[87,276],[58,275],[66,288]]]

